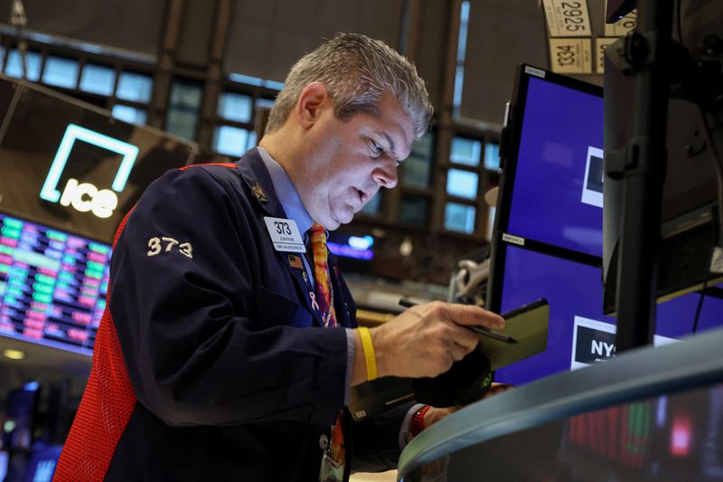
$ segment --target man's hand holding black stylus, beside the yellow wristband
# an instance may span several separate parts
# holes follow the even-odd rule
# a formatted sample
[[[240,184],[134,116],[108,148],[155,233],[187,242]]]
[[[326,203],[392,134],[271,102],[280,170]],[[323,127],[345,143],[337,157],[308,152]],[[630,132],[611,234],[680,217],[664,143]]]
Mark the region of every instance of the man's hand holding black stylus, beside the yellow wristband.
[[[445,373],[477,346],[477,334],[465,325],[502,328],[504,320],[481,307],[435,301],[411,307],[372,328],[378,376],[419,378]],[[365,372],[363,362],[354,365],[354,375],[362,374],[357,369]],[[352,375],[352,384],[363,380]]]

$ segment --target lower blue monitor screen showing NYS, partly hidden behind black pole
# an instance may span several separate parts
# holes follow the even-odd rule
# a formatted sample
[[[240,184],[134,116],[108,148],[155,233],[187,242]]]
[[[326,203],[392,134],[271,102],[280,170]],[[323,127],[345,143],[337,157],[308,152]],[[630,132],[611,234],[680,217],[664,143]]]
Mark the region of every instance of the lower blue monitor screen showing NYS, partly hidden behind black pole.
[[[537,298],[549,301],[547,350],[497,371],[495,381],[521,384],[603,362],[615,355],[615,318],[603,315],[601,270],[502,243],[504,313]],[[655,345],[689,335],[699,295],[658,305]],[[723,300],[706,297],[698,330],[723,324]]]

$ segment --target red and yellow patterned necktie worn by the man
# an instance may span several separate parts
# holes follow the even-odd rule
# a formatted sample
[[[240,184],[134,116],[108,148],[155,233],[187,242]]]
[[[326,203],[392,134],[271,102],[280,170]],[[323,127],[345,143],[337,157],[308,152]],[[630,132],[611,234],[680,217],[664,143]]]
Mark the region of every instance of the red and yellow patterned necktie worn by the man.
[[[314,253],[314,277],[316,279],[316,297],[318,298],[319,311],[322,314],[324,328],[334,328],[337,326],[337,323],[336,312],[333,309],[332,283],[329,279],[326,231],[324,230],[324,226],[315,222],[309,232],[311,233],[311,249]],[[327,472],[324,474],[325,464],[323,464],[323,480],[341,480],[341,477],[343,477],[346,454],[342,427],[343,411],[340,411],[333,425],[331,444],[324,456],[324,458],[329,458],[326,462],[330,463],[331,466],[326,467],[326,470],[331,470],[331,473]],[[338,478],[329,477],[332,476],[332,474],[335,474]]]

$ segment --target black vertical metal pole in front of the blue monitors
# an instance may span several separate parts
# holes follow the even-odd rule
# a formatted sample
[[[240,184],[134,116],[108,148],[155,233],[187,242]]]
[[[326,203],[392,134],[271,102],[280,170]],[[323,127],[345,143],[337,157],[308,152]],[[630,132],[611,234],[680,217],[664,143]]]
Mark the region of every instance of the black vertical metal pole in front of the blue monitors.
[[[635,66],[632,141],[623,177],[623,219],[617,278],[616,349],[649,345],[655,330],[660,260],[662,184],[667,155],[672,0],[640,0],[638,26],[626,44]]]

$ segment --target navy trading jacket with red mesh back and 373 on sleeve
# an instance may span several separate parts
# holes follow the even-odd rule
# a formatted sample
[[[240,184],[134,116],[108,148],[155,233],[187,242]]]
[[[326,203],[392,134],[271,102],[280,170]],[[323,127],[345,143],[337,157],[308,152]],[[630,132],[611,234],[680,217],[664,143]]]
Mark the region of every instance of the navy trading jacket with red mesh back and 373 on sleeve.
[[[265,216],[286,218],[256,149],[148,187],[116,236],[56,480],[318,479],[320,439],[343,408],[346,334],[321,327]],[[356,326],[331,255],[329,269],[338,322]],[[396,463],[408,406],[361,423],[346,414],[347,477]]]

